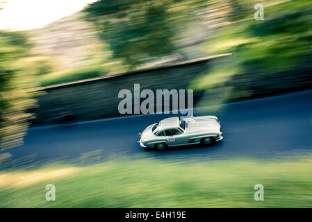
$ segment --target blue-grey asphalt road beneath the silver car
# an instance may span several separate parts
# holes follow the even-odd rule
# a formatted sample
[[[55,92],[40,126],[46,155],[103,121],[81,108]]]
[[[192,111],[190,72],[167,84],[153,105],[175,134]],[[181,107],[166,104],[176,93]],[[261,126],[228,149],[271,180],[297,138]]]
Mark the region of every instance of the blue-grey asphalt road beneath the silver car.
[[[224,139],[208,146],[145,151],[137,143],[146,126],[172,114],[148,114],[58,126],[33,127],[23,146],[1,151],[8,167],[62,160],[83,163],[115,157],[208,161],[213,158],[284,158],[312,153],[312,90],[223,106],[215,113]],[[197,110],[195,110],[195,115]],[[4,162],[3,162],[4,164]]]

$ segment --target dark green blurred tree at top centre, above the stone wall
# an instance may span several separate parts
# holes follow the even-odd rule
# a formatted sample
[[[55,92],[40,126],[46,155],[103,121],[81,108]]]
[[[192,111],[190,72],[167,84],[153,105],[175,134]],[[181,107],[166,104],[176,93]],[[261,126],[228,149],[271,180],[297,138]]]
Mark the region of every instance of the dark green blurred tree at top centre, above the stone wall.
[[[149,56],[174,53],[174,41],[190,21],[189,13],[199,6],[193,1],[101,0],[85,12],[113,58],[134,69]]]

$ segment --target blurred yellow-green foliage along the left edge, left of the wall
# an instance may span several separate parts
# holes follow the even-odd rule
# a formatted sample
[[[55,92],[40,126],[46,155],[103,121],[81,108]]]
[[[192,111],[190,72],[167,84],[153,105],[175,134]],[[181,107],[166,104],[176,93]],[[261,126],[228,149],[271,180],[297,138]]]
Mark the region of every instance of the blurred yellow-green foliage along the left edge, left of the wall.
[[[15,66],[15,62],[28,56],[30,44],[22,33],[0,31],[0,148],[22,143],[27,120],[31,114],[25,110],[34,105],[27,89],[33,87],[32,75]]]

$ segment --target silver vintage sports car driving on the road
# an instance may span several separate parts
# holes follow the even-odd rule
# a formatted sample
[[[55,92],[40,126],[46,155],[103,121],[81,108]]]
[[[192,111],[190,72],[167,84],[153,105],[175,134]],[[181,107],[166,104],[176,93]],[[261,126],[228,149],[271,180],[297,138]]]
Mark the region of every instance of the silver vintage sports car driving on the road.
[[[147,126],[140,134],[140,146],[163,150],[167,146],[210,144],[223,139],[215,116],[170,117]]]

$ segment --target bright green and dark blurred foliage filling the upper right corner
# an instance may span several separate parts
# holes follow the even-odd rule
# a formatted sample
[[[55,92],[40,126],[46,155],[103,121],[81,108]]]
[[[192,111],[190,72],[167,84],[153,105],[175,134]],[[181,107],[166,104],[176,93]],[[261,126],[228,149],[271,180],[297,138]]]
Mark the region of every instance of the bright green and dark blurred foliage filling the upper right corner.
[[[253,7],[246,7],[257,1],[231,2],[249,11],[234,10],[234,17],[240,19],[229,17],[232,23],[216,31],[205,43],[208,53],[233,53],[231,58],[211,63],[209,70],[213,72],[202,74],[200,78],[206,82],[210,75],[220,77],[220,84],[207,83],[206,89],[231,86],[234,87],[231,99],[240,99],[239,91],[257,96],[311,87],[311,1],[288,1],[265,7],[263,21],[254,19]],[[197,84],[195,87],[200,88]]]

